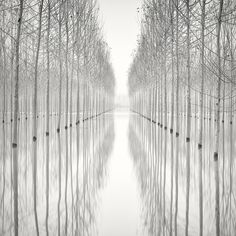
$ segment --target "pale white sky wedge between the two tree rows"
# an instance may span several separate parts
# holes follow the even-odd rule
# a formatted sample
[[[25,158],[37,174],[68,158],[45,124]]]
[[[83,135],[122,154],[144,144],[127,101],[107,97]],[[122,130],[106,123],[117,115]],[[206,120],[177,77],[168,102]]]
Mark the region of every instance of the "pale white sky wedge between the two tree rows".
[[[105,40],[111,48],[116,94],[127,95],[128,69],[140,32],[137,8],[142,0],[98,0]]]

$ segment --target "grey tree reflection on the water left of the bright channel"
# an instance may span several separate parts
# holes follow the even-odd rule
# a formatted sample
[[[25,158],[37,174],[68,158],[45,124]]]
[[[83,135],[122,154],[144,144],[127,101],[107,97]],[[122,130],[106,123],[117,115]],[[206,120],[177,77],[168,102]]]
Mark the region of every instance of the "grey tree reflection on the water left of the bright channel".
[[[54,120],[55,119],[55,120]],[[104,187],[113,148],[113,114],[56,132],[56,118],[38,120],[37,176],[34,183],[31,119],[19,125],[19,235],[35,235],[34,186],[40,235],[93,235],[97,198]],[[10,124],[1,138],[0,234],[13,235],[12,149]]]

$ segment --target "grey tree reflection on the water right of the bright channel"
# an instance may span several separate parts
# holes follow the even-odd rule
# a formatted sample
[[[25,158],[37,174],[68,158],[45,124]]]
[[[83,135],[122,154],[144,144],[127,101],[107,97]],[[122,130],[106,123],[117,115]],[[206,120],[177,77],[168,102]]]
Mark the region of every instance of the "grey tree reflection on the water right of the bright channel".
[[[184,123],[184,117],[180,117]],[[225,122],[226,123],[226,122]],[[230,122],[228,122],[230,123]],[[198,122],[193,122],[190,159],[189,235],[199,235],[198,185]],[[203,235],[215,235],[215,180],[211,140],[214,138],[214,121],[204,121],[203,150]],[[220,161],[221,235],[236,232],[235,127],[223,127]],[[186,142],[182,126],[179,146],[176,138],[150,120],[130,115],[129,146],[139,182],[143,204],[143,227],[148,235],[184,235],[186,208]],[[177,149],[178,148],[178,149]],[[176,149],[179,150],[178,181],[176,182]],[[176,195],[176,189],[178,189]],[[177,200],[176,200],[177,199]],[[178,212],[176,213],[176,209]],[[177,216],[175,226],[174,218]]]

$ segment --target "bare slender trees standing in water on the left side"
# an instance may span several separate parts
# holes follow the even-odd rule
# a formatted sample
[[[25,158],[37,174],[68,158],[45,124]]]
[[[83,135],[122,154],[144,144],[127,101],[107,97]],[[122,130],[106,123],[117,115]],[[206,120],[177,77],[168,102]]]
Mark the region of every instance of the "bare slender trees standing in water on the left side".
[[[38,120],[45,117],[49,160],[50,117],[62,127],[111,109],[114,74],[95,0],[0,2],[2,122],[11,124],[14,226],[18,235],[19,122],[32,127],[33,195],[37,235]],[[48,173],[47,173],[48,175]]]

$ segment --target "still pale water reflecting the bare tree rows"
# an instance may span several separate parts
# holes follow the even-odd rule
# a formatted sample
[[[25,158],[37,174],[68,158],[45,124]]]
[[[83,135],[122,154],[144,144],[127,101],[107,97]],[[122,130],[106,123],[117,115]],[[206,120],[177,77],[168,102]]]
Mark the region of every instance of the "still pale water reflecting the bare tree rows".
[[[56,133],[56,120],[57,117],[51,117],[50,120],[47,159],[45,116],[39,117],[36,183],[32,178],[31,119],[20,121],[19,235],[36,235],[35,215],[40,235],[162,236],[170,235],[171,232],[174,235],[175,230],[178,235],[184,235],[184,125],[181,127],[179,168],[176,171],[175,138],[128,110],[115,110],[87,120],[77,127],[74,125],[60,134]],[[189,235],[198,235],[198,122],[192,123]],[[232,126],[225,125],[221,136],[222,235],[235,235],[236,232],[236,132],[233,128],[233,139],[230,139],[230,128]],[[11,129],[9,122],[2,124],[0,130],[0,235],[14,234]],[[213,126],[206,121],[203,160],[204,235],[215,234],[213,136]],[[34,187],[37,189],[36,200]]]

